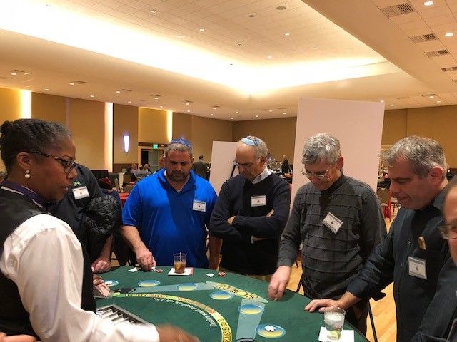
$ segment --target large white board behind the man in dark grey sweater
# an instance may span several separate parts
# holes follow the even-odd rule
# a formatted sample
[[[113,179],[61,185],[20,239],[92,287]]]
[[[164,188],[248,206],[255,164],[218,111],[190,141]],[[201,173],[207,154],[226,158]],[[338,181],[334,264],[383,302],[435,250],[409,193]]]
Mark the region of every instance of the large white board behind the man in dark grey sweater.
[[[317,133],[330,133],[338,138],[344,158],[344,174],[368,183],[376,191],[383,118],[384,103],[317,98],[298,100],[292,199],[298,188],[309,182],[301,174],[301,157],[306,139]]]

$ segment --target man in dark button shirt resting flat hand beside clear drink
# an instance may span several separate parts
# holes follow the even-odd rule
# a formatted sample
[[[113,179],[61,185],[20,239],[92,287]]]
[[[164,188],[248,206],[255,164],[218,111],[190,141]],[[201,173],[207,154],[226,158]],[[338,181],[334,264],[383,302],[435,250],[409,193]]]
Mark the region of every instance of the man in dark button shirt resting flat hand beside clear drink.
[[[448,185],[443,147],[430,138],[410,136],[383,151],[381,159],[388,165],[392,195],[401,204],[388,236],[341,298],[311,301],[305,309],[346,309],[393,282],[397,341],[417,341],[418,334],[446,336],[449,324],[440,317],[451,301],[443,293],[452,275],[448,244],[438,231]]]

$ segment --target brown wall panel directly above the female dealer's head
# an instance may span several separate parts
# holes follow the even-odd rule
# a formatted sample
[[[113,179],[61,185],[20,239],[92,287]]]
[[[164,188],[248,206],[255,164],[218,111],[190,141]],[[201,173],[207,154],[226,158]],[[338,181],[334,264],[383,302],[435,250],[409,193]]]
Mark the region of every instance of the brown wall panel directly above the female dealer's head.
[[[62,96],[31,93],[31,117],[66,125],[66,100]]]

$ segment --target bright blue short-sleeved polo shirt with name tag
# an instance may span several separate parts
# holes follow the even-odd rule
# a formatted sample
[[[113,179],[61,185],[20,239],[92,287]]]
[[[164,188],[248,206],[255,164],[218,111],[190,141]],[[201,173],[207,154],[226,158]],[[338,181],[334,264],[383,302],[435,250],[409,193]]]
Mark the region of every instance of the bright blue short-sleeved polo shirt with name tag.
[[[206,227],[216,198],[211,184],[193,171],[177,192],[162,169],[135,185],[122,210],[122,222],[139,229],[157,265],[173,266],[173,254],[183,252],[186,266],[207,268]]]

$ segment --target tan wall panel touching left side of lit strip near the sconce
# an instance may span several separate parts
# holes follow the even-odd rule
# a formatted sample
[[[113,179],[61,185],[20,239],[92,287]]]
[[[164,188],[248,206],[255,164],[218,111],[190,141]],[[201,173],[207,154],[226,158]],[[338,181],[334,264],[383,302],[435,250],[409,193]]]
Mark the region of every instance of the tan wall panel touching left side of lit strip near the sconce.
[[[76,160],[89,169],[104,170],[105,103],[69,98],[68,113]]]

